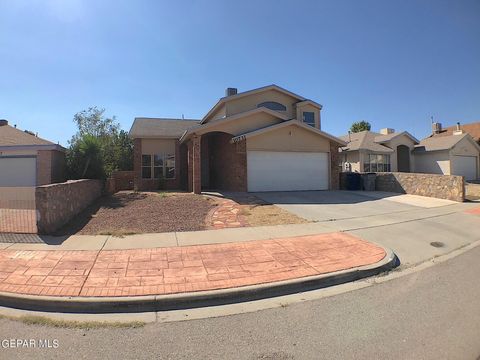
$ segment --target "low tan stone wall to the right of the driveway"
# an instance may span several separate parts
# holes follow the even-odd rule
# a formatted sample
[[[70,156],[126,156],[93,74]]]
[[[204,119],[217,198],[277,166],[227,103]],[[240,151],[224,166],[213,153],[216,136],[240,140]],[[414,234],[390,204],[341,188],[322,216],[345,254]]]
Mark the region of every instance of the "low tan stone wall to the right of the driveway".
[[[465,200],[463,177],[454,175],[376,173],[375,189],[460,202]]]

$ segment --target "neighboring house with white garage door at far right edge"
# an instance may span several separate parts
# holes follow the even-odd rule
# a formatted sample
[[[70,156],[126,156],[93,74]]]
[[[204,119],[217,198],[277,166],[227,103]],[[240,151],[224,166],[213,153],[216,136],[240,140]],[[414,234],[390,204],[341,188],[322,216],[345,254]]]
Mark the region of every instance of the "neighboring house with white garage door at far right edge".
[[[438,135],[441,129],[433,124],[433,136],[415,146],[415,172],[462,175],[465,180],[480,178],[480,145],[460,128],[451,135]]]

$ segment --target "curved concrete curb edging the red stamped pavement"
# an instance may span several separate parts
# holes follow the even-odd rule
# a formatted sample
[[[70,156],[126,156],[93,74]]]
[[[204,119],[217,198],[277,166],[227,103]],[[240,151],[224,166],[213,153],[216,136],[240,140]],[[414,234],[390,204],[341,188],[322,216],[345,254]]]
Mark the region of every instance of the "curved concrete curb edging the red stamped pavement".
[[[385,257],[375,264],[274,283],[134,297],[59,297],[0,292],[0,306],[42,312],[107,314],[185,310],[228,305],[340,285],[377,275],[398,266],[399,260],[395,253],[390,249],[383,249],[386,253]]]

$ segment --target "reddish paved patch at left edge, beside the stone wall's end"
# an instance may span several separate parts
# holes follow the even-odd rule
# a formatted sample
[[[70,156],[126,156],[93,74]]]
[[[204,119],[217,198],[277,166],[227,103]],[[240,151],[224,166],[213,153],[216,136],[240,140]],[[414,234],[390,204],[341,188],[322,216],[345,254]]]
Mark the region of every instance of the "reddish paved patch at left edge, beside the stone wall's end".
[[[37,215],[30,209],[0,209],[0,233],[37,232]]]

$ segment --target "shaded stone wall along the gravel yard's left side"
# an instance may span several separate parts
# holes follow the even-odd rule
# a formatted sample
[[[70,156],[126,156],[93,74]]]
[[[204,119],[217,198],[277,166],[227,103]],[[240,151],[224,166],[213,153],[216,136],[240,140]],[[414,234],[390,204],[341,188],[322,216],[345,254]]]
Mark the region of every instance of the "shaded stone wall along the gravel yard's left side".
[[[37,186],[37,228],[49,234],[70,221],[102,194],[100,180],[70,180],[64,183]]]

